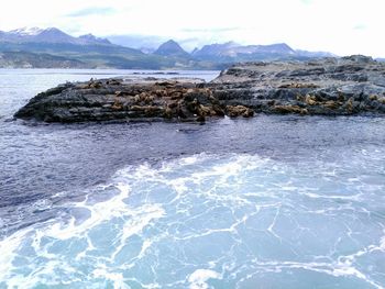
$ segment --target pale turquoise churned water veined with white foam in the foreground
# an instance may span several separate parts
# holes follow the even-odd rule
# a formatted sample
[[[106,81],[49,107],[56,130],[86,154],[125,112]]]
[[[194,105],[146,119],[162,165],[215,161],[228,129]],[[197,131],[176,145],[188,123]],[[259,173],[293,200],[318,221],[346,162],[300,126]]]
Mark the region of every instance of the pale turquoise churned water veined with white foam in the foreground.
[[[42,201],[37,210],[65,210],[0,243],[0,287],[383,288],[384,151],[375,155],[127,167],[79,200]]]

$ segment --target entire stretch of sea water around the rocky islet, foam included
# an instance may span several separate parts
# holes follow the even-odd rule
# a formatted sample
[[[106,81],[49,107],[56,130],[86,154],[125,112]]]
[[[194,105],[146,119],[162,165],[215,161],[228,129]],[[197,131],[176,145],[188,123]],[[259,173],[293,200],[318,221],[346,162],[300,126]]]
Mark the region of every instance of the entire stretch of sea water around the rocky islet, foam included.
[[[120,75],[0,70],[0,288],[385,288],[385,119],[11,119]]]

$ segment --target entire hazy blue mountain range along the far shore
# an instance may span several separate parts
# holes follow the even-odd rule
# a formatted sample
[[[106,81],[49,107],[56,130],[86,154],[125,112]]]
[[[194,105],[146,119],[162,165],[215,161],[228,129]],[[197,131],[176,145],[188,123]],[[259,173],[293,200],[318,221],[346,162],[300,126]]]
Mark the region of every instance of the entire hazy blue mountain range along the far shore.
[[[296,51],[285,43],[245,46],[228,42],[188,53],[173,40],[154,51],[124,47],[92,34],[74,37],[55,27],[0,31],[0,67],[222,69],[238,62],[327,56],[333,55]]]

